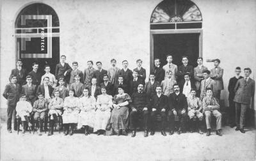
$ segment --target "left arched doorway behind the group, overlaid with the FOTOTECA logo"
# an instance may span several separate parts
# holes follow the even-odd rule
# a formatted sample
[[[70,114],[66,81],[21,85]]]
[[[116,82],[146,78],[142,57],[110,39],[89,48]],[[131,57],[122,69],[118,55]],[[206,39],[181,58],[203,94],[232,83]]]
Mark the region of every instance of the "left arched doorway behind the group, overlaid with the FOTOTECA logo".
[[[44,3],[33,3],[23,8],[15,20],[17,59],[31,70],[33,62],[51,65],[54,71],[60,61],[60,23],[56,12]]]

